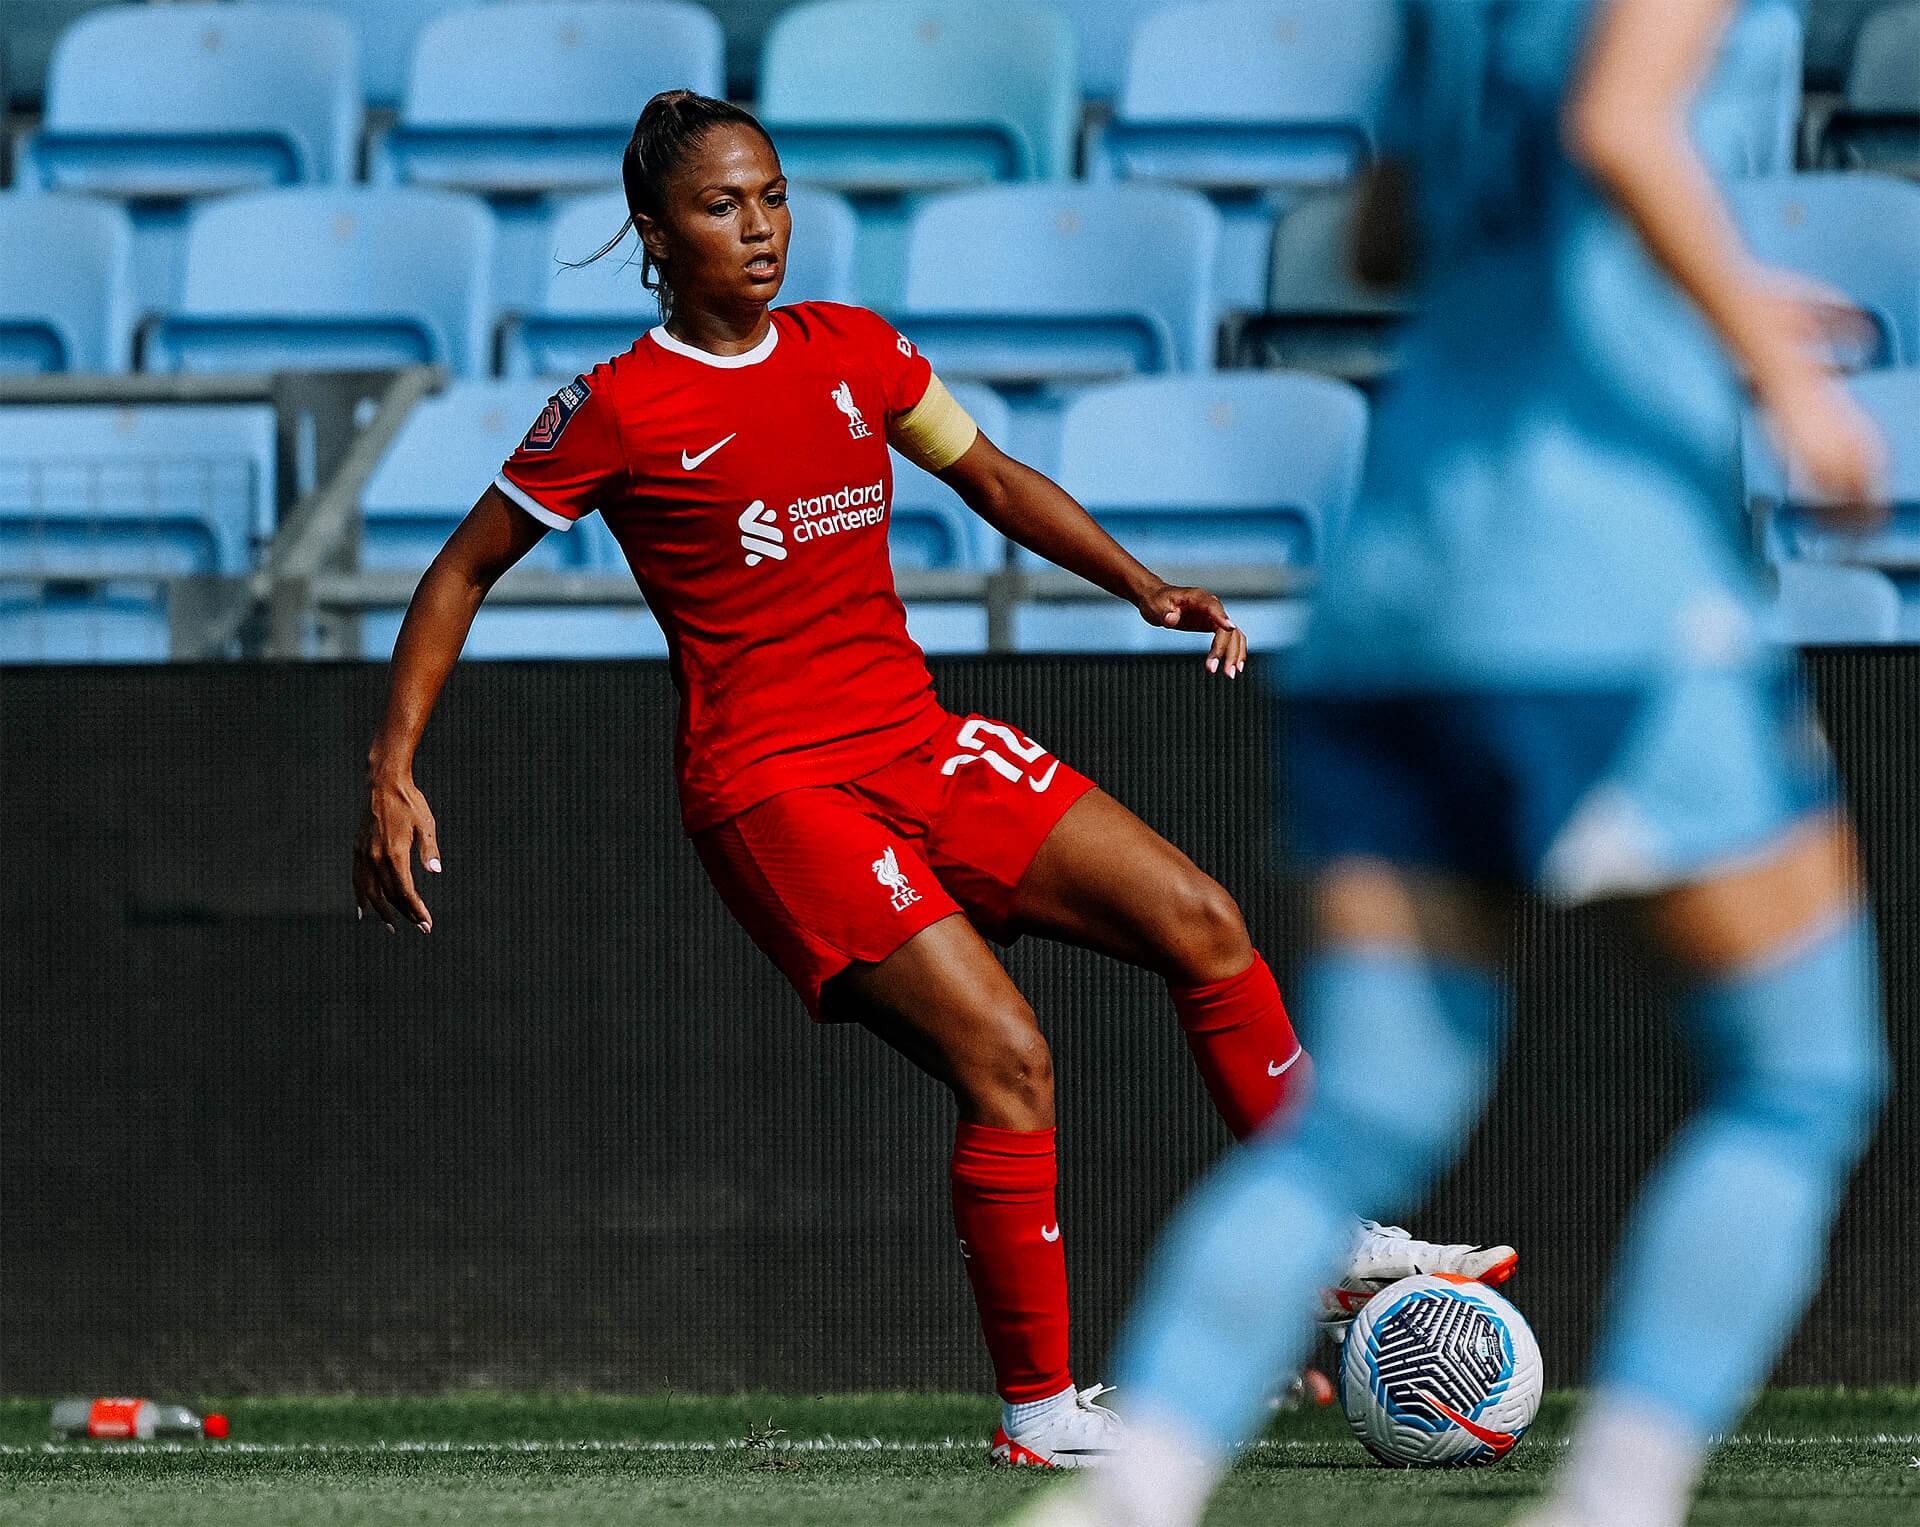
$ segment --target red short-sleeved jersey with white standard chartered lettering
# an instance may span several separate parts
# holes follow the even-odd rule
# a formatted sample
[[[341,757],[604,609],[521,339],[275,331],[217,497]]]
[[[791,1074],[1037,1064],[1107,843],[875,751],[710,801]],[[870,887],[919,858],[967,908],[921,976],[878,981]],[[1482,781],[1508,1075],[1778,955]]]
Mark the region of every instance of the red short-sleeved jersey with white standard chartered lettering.
[[[680,690],[687,832],[858,780],[945,718],[887,553],[887,432],[931,376],[862,307],[776,309],[745,355],[655,328],[561,388],[501,471],[534,519],[597,509],[626,551]]]

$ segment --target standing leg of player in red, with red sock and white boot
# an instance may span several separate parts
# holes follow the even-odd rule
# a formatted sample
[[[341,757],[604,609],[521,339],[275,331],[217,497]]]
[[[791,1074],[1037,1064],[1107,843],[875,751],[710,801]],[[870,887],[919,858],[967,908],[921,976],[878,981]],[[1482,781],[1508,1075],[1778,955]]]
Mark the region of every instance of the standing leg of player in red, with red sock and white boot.
[[[1002,1400],[995,1460],[1104,1458],[1117,1418],[1083,1398],[1068,1369],[1052,1062],[1027,1001],[954,916],[835,976],[824,1010],[864,1024],[950,1087],[960,1108],[952,1210]]]

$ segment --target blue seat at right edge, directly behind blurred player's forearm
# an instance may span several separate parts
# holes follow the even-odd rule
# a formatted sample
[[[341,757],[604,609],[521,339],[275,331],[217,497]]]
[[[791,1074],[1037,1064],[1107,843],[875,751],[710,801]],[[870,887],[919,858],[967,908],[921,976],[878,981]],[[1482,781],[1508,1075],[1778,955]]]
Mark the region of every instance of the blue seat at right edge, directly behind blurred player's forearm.
[[[1920,186],[1884,175],[1776,175],[1732,181],[1753,254],[1857,303],[1880,332],[1851,365],[1920,363]]]

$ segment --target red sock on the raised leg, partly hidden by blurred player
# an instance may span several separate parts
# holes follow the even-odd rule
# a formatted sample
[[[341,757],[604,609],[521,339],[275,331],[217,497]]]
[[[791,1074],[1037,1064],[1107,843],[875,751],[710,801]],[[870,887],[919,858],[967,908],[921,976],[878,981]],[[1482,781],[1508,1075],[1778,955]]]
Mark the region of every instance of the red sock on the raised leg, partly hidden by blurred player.
[[[1313,1062],[1294,1037],[1267,962],[1210,985],[1169,987],[1187,1049],[1206,1079],[1213,1106],[1235,1139],[1246,1139],[1273,1114],[1306,1097]]]

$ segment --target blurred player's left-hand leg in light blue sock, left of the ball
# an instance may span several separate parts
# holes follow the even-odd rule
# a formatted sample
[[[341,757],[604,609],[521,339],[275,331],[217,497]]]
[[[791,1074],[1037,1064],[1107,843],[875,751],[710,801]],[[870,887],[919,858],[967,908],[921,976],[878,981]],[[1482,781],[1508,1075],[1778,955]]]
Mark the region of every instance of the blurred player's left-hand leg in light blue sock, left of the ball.
[[[1405,1206],[1459,1149],[1500,1031],[1482,907],[1382,862],[1321,880],[1323,945],[1302,987],[1313,1097],[1296,1131],[1233,1152],[1162,1237],[1119,1345],[1129,1448],[1094,1481],[1087,1519],[1198,1521],[1271,1383],[1308,1350],[1352,1216]]]

